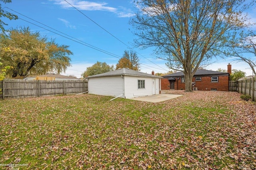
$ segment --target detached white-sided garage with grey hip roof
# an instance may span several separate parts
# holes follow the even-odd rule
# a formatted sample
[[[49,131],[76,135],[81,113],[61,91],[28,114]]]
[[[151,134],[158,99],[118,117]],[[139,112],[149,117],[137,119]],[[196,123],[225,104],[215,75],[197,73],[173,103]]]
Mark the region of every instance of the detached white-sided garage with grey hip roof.
[[[154,72],[152,72],[153,74]],[[118,70],[88,76],[88,94],[136,98],[159,94],[162,77],[120,68]]]

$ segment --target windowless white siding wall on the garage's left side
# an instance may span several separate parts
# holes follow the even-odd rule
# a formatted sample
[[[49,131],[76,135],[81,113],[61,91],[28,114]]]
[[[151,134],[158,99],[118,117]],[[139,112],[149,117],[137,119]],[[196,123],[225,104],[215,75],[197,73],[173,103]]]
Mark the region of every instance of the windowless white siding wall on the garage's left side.
[[[123,94],[123,78],[121,76],[89,78],[88,94],[119,96]],[[124,96],[120,97],[124,98]]]

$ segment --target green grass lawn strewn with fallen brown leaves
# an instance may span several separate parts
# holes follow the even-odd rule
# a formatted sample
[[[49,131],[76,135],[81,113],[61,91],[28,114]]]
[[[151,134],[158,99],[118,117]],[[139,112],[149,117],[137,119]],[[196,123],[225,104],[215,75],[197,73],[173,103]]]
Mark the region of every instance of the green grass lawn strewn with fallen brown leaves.
[[[0,164],[20,169],[255,169],[256,105],[236,92],[0,100]],[[8,169],[1,166],[0,169]]]

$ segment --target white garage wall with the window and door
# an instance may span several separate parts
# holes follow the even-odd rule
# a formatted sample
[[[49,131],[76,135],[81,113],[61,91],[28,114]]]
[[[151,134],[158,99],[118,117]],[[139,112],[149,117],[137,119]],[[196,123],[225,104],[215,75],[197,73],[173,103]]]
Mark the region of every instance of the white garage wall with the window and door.
[[[138,89],[138,80],[145,80],[145,89]],[[156,94],[159,94],[159,78],[155,78]],[[124,76],[125,97],[136,98],[152,95],[152,78]]]

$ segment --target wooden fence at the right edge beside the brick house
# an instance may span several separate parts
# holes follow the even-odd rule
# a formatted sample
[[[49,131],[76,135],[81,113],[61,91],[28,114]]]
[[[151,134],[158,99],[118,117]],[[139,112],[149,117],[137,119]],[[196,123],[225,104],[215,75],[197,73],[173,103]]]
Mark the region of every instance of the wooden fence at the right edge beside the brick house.
[[[256,78],[247,78],[244,80],[231,81],[230,91],[237,91],[242,94],[248,94],[252,96],[252,101],[255,100],[256,96]]]

